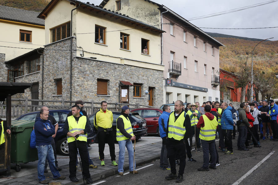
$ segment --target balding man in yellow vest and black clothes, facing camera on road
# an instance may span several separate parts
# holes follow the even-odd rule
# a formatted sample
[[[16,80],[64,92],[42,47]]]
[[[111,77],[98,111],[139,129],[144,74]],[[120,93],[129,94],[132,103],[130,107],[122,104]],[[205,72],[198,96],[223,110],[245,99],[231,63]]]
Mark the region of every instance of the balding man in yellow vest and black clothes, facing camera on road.
[[[185,142],[187,142],[190,130],[190,117],[183,110],[183,102],[175,102],[175,111],[172,112],[168,119],[166,130],[166,148],[167,157],[169,158],[171,173],[165,177],[167,180],[176,179],[176,182],[183,181],[183,172],[186,162]],[[175,158],[180,159],[179,173],[176,171]]]

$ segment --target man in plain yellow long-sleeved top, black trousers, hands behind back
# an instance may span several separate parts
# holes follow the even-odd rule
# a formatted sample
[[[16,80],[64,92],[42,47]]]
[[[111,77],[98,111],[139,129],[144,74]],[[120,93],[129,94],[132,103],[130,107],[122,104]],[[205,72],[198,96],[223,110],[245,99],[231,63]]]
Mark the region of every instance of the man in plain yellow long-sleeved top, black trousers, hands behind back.
[[[103,151],[105,142],[107,142],[109,145],[111,164],[116,167],[118,164],[116,163],[114,133],[112,130],[113,113],[107,109],[106,101],[102,101],[100,106],[101,108],[95,113],[94,119],[95,128],[98,130],[100,166],[105,166]]]

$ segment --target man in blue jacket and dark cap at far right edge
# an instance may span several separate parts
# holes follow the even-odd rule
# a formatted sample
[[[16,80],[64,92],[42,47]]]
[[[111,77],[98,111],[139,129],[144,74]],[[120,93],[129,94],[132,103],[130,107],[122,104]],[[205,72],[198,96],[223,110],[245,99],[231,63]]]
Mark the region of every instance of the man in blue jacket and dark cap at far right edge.
[[[270,121],[271,121],[271,129],[272,129],[272,134],[273,134],[273,138],[270,140],[273,141],[278,141],[278,125],[277,125],[277,114],[278,114],[278,105],[276,105],[274,103],[274,100],[270,100],[269,101],[270,106],[269,106],[269,111],[267,116],[270,117]]]

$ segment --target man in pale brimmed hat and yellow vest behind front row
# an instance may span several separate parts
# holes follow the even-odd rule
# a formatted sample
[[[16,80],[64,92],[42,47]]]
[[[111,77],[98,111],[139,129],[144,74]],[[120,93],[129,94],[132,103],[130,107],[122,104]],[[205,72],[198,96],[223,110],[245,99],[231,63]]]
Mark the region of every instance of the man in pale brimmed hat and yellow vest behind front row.
[[[196,141],[196,151],[200,152],[201,151],[201,144],[200,144],[200,129],[196,128],[196,125],[198,123],[198,120],[201,116],[201,113],[196,110],[196,103],[191,104],[191,110],[187,111],[188,116],[190,117],[190,122],[191,122],[191,133],[195,134],[195,141]],[[193,135],[193,134],[192,134]],[[192,135],[189,136],[189,141],[190,141],[190,146],[192,147]]]

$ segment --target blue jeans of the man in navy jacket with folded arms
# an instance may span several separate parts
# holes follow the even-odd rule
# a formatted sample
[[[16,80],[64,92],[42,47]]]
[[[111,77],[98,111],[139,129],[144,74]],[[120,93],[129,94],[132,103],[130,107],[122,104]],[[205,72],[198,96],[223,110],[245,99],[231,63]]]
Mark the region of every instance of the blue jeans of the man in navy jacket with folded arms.
[[[38,150],[38,179],[39,181],[45,180],[44,176],[44,165],[45,165],[45,159],[47,158],[49,162],[49,168],[50,171],[52,172],[53,178],[58,178],[60,177],[60,173],[57,170],[55,166],[55,158],[54,158],[54,152],[52,146],[49,145],[41,145],[41,146],[36,146]]]

